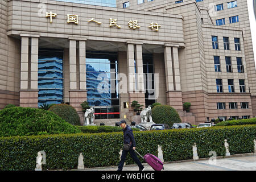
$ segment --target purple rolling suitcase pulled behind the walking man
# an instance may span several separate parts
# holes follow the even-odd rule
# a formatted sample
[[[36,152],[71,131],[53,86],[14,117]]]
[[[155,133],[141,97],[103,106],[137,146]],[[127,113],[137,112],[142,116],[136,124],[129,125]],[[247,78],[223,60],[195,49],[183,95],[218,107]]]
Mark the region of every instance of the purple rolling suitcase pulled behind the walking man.
[[[163,162],[156,156],[148,153],[142,156],[141,154],[139,154],[139,152],[137,152],[137,150],[135,150],[135,152],[139,156],[141,156],[141,158],[144,159],[148,163],[148,165],[151,166],[155,171],[161,171],[162,169],[164,169]]]

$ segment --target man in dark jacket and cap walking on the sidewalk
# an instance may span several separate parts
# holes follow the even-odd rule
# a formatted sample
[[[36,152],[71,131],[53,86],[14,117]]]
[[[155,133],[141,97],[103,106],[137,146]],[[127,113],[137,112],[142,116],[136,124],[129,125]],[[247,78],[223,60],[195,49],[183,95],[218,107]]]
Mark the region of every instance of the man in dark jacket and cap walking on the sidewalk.
[[[135,163],[138,165],[139,171],[143,171],[144,166],[139,161],[137,155],[134,152],[135,147],[136,147],[136,143],[135,143],[135,139],[134,139],[134,136],[133,136],[133,130],[131,129],[131,127],[127,126],[126,124],[127,123],[126,123],[125,120],[122,120],[122,121],[119,122],[119,125],[123,129],[123,144],[128,146],[128,148],[127,149],[125,147],[123,148],[122,155],[121,155],[121,160],[119,162],[117,171],[122,171],[123,164],[125,163],[125,159],[126,159],[126,156],[127,156],[128,152],[130,152],[131,158],[133,158]],[[130,147],[129,147],[129,144],[130,144]]]

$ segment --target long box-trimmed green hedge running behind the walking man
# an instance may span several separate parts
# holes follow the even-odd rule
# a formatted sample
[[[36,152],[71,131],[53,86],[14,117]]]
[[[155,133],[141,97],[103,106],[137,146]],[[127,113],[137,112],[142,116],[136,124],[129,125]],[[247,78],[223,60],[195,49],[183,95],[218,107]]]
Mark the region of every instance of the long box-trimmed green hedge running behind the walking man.
[[[158,156],[159,144],[164,161],[170,162],[192,159],[194,142],[199,158],[209,158],[210,151],[224,156],[225,139],[230,154],[254,152],[256,125],[135,131],[134,135],[138,152]],[[80,152],[85,167],[117,166],[122,140],[121,132],[0,138],[0,170],[35,170],[37,153],[42,150],[47,163],[43,169],[75,169]],[[129,155],[126,164],[133,163]]]

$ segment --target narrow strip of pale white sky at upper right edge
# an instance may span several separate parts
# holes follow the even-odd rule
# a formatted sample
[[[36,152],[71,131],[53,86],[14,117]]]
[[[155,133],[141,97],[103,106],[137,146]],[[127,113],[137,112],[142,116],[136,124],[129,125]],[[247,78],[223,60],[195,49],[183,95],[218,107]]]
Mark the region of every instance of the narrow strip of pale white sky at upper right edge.
[[[253,39],[253,52],[254,52],[254,61],[255,61],[255,68],[256,68],[256,19],[253,10],[253,0],[247,0],[247,6],[249,11],[249,19],[250,19],[250,26],[251,26],[251,38]]]

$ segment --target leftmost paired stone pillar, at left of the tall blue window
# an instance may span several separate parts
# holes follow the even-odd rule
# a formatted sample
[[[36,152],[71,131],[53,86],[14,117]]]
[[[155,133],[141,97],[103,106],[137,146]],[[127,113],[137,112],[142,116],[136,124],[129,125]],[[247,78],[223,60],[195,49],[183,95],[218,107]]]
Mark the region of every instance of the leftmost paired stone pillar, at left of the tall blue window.
[[[28,83],[28,50],[30,35],[21,36],[21,64],[20,64],[20,99],[21,107],[38,108],[38,39],[39,36],[31,38],[31,71],[30,84]]]

